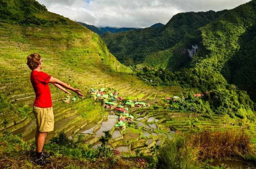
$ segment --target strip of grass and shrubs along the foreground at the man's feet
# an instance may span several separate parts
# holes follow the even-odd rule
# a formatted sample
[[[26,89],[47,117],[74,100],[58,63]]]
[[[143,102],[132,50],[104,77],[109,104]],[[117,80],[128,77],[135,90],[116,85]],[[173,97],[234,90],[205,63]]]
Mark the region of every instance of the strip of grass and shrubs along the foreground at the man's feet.
[[[251,136],[244,130],[195,132],[176,135],[163,146],[155,146],[151,156],[137,157],[147,160],[146,166],[136,164],[133,158],[122,159],[110,154],[100,158],[98,149],[93,150],[82,138],[71,143],[59,135],[61,144],[47,143],[45,151],[51,154],[51,163],[42,167],[32,162],[34,142],[25,142],[19,136],[6,133],[0,140],[1,168],[188,168],[218,169],[227,166],[210,166],[215,159],[243,159],[247,167],[256,164],[255,147]],[[56,141],[56,140],[55,140]]]

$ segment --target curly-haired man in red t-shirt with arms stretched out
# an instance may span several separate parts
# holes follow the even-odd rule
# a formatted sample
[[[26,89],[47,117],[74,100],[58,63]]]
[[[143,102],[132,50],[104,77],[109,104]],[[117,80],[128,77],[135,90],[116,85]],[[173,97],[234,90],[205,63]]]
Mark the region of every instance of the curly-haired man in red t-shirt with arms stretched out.
[[[37,53],[31,53],[27,56],[27,65],[32,70],[30,80],[36,95],[33,106],[37,125],[35,134],[36,156],[34,157],[34,162],[38,165],[45,165],[47,162],[45,158],[48,155],[43,153],[44,141],[47,132],[53,131],[54,128],[52,98],[48,83],[52,83],[67,94],[71,93],[66,88],[84,97],[80,93],[81,90],[70,87],[66,83],[40,71],[42,69],[42,62],[41,56]]]

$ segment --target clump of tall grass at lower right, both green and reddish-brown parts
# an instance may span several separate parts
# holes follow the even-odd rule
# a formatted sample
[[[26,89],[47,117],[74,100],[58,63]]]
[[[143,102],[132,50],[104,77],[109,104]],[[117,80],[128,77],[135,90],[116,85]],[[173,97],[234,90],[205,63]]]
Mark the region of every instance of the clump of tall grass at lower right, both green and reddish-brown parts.
[[[208,159],[248,157],[255,154],[244,130],[188,133],[168,140],[157,153],[158,168],[197,168]]]

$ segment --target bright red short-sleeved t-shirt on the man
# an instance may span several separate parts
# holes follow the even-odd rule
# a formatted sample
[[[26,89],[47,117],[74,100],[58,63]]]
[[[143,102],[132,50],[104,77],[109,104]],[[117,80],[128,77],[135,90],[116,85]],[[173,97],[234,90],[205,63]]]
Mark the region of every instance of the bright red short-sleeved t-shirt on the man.
[[[30,80],[35,91],[34,105],[37,107],[52,107],[52,97],[49,89],[49,80],[51,76],[44,72],[32,71]]]

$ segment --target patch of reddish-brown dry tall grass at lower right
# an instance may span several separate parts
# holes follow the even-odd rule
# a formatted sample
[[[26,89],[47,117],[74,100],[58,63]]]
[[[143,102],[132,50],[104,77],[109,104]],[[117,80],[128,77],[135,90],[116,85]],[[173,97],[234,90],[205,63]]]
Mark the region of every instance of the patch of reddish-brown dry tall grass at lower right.
[[[187,137],[190,146],[198,149],[200,160],[250,155],[254,152],[251,138],[244,130],[200,132]]]

